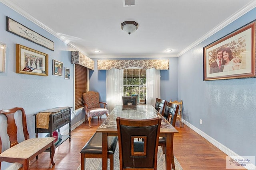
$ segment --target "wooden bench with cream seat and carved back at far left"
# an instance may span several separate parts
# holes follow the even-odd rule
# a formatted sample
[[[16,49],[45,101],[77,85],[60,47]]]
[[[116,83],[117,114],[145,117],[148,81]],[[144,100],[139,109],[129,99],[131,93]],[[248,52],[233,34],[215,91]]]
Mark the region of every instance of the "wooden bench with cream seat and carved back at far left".
[[[54,166],[55,162],[53,161],[53,156],[55,153],[55,138],[44,137],[29,139],[26,114],[23,108],[15,107],[8,110],[0,110],[0,116],[0,118],[7,118],[7,135],[9,136],[10,142],[8,149],[1,153],[2,144],[6,143],[5,145],[7,145],[8,142],[2,141],[0,137],[0,169],[1,162],[5,161],[10,163],[18,162],[22,164],[22,170],[29,170],[30,160],[35,158],[38,154],[44,152],[44,150],[49,147],[51,148],[51,163],[52,166]],[[14,117],[18,119],[15,121]],[[19,126],[16,125],[15,122],[18,124],[20,121],[22,121],[22,127],[20,127],[18,131]],[[20,132],[20,129],[23,129],[23,134],[17,133],[17,131]],[[18,139],[24,139],[24,141],[18,142]]]

